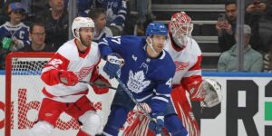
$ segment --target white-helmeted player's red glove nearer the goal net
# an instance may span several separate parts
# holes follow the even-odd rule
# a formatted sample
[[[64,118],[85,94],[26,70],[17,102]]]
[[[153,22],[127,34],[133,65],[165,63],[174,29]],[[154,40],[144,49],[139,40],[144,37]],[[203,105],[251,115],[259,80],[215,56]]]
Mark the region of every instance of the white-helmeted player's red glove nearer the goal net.
[[[67,86],[73,86],[78,83],[78,78],[73,72],[59,71],[60,83]]]

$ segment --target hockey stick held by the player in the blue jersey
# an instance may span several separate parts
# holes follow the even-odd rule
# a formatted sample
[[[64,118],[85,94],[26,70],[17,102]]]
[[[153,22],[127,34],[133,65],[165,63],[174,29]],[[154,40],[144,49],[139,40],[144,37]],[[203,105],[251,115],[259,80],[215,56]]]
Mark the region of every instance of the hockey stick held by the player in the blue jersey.
[[[146,112],[146,110],[141,106],[141,104],[133,97],[133,94],[131,93],[131,91],[126,87],[124,83],[121,82],[121,79],[119,78],[118,75],[115,76],[115,79],[121,85],[121,88],[129,95],[129,97],[136,104],[136,106],[140,108],[141,112],[145,115],[145,117],[147,117],[149,121],[153,123],[157,123],[156,121],[152,120],[151,115],[148,112]],[[166,136],[163,131],[160,131],[160,135]]]

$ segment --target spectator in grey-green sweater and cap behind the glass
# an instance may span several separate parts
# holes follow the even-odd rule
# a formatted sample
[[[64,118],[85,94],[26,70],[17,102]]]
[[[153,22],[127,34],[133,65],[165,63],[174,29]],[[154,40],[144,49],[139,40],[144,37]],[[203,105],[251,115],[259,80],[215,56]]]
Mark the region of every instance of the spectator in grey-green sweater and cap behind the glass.
[[[248,24],[244,25],[244,67],[245,73],[260,73],[263,70],[263,57],[251,48],[249,44],[251,28]],[[237,35],[236,35],[237,40]],[[228,51],[221,54],[219,57],[218,71],[219,72],[237,72],[237,44],[234,44]]]

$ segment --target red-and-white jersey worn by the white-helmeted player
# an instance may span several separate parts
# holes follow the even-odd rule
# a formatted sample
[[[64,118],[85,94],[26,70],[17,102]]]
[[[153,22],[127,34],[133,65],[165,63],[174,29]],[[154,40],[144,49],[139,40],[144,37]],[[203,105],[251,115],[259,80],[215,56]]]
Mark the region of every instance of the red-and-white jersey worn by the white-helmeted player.
[[[63,44],[53,55],[53,58],[44,66],[42,78],[45,79],[44,95],[58,102],[76,102],[88,93],[85,83],[66,86],[53,80],[54,70],[70,71],[77,75],[79,81],[90,82],[92,73],[97,71],[101,60],[98,44],[92,42],[84,53],[78,50],[75,39]],[[53,77],[54,76],[54,77]]]

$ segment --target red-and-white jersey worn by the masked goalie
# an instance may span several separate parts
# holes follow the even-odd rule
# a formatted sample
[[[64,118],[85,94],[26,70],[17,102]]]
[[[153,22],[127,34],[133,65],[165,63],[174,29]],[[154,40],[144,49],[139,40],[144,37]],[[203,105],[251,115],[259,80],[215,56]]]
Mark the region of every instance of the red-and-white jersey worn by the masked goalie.
[[[188,37],[188,44],[185,48],[180,48],[174,45],[171,39],[168,38],[164,49],[170,53],[176,64],[173,87],[182,85],[187,91],[191,91],[189,92],[190,96],[195,95],[197,92],[193,91],[197,91],[199,84],[202,82],[200,67],[202,54],[199,44],[194,39]]]

